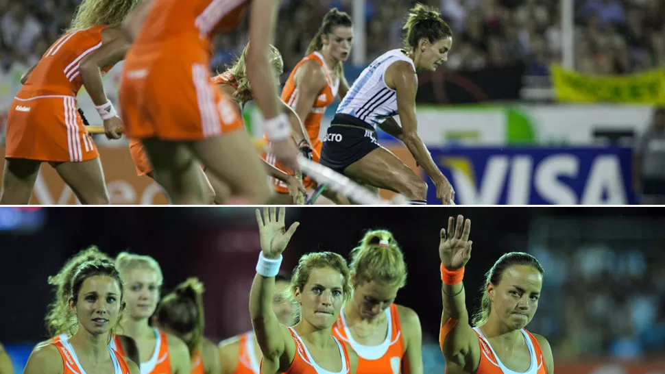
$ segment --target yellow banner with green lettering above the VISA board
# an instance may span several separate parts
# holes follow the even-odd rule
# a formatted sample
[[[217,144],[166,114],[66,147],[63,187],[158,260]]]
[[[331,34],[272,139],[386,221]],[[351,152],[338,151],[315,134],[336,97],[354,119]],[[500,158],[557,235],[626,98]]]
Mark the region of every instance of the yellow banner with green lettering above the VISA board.
[[[553,65],[552,82],[559,101],[665,103],[665,69],[627,75],[581,74]]]

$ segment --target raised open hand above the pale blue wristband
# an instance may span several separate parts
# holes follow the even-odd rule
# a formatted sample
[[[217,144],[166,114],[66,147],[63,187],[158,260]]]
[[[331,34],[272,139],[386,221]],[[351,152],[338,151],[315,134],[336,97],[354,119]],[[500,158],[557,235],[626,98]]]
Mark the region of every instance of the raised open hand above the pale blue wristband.
[[[256,221],[258,222],[258,233],[261,236],[261,250],[266,258],[279,258],[282,252],[287,248],[291,236],[295,233],[300,223],[294,222],[289,230],[285,229],[284,216],[287,209],[281,208],[279,216],[276,214],[277,208],[263,208],[263,218],[261,212],[256,210]]]

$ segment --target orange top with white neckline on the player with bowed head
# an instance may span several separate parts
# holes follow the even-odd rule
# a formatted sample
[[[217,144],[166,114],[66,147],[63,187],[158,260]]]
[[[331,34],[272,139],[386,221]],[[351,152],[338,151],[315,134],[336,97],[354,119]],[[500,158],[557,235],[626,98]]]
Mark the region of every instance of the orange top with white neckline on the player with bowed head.
[[[404,356],[404,337],[402,326],[396,304],[392,304],[385,310],[388,321],[388,331],[385,340],[380,345],[367,346],[353,340],[351,332],[346,324],[343,310],[333,325],[333,335],[339,340],[348,342],[358,353],[357,374],[372,373],[394,373],[402,370],[402,358]]]

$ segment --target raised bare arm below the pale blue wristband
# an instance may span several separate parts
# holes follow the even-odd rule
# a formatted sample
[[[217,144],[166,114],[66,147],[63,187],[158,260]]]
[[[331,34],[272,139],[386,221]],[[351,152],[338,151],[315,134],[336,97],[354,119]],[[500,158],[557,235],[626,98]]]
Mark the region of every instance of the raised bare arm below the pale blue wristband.
[[[276,374],[280,372],[281,362],[291,362],[295,354],[295,342],[289,330],[280,325],[272,309],[275,294],[275,277],[264,277],[256,273],[250,290],[250,316],[254,335],[263,353],[261,373]],[[290,345],[290,347],[287,347]]]

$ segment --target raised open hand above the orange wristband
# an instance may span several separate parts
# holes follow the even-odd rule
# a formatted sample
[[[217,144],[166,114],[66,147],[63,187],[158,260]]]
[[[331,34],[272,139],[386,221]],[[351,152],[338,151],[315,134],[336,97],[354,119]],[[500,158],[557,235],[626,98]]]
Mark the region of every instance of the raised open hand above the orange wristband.
[[[439,242],[439,258],[446,269],[461,269],[469,262],[473,243],[469,240],[470,232],[470,219],[464,221],[464,217],[460,214],[457,216],[456,225],[454,217],[448,218],[448,232],[446,229],[441,229],[441,242]]]

